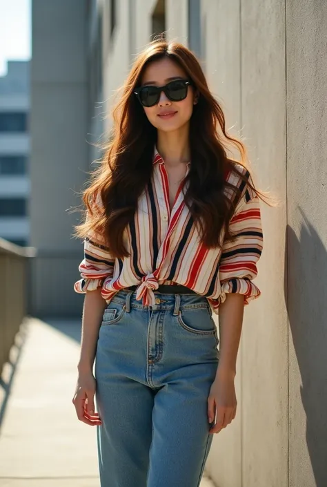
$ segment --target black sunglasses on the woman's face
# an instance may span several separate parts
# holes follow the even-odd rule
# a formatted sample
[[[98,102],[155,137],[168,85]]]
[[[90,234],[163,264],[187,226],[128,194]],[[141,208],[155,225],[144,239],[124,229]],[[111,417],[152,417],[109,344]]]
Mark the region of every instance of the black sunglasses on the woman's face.
[[[134,90],[134,93],[137,95],[139,102],[146,107],[157,105],[161,91],[164,91],[171,102],[181,102],[182,99],[187,97],[190,84],[191,82],[188,79],[174,79],[165,84],[165,86],[140,86]]]

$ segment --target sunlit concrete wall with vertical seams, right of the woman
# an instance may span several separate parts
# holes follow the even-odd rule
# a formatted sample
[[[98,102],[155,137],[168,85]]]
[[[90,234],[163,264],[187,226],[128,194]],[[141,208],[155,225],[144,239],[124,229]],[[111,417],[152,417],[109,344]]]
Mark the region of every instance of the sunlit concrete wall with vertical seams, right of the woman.
[[[281,201],[262,205],[262,296],[244,314],[237,417],[207,469],[219,487],[322,487],[327,4],[203,0],[201,16],[210,86],[232,132],[241,128],[259,187]]]

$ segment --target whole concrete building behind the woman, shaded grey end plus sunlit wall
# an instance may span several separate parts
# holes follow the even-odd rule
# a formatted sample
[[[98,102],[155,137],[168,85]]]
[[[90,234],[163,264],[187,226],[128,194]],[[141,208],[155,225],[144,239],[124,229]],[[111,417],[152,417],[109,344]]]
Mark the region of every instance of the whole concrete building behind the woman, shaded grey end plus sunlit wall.
[[[67,210],[106,140],[132,60],[155,34],[201,58],[261,189],[259,300],[244,314],[235,421],[207,470],[219,487],[327,485],[327,75],[324,0],[33,2],[32,202],[36,314],[81,314],[81,242]]]

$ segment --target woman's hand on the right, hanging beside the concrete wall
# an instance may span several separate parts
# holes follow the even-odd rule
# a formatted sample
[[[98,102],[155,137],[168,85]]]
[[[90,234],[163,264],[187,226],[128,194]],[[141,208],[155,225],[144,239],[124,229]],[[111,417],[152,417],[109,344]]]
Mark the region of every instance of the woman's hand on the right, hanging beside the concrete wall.
[[[210,433],[219,433],[223,428],[226,428],[235,418],[236,408],[234,376],[217,374],[208,396],[209,423],[215,420],[215,413],[217,412],[217,421],[215,426],[210,428]]]

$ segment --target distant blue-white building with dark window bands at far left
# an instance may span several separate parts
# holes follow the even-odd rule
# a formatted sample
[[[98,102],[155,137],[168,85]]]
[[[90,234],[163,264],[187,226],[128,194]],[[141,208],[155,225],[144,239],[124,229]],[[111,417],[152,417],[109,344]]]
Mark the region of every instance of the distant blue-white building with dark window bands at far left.
[[[23,247],[30,238],[30,64],[9,61],[0,77],[0,237]]]

